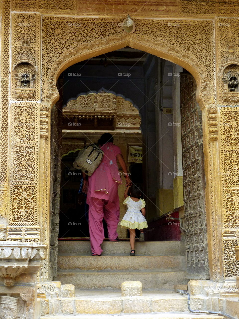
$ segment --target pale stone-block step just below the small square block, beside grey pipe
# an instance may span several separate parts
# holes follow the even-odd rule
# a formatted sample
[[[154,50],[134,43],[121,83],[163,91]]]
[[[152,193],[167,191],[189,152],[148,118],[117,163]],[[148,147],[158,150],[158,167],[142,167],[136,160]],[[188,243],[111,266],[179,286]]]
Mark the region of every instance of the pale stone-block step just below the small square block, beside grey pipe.
[[[203,298],[191,298],[192,309],[207,308]],[[40,300],[40,299],[39,299]],[[41,299],[42,315],[188,312],[187,296],[172,290],[143,291],[142,296],[122,297],[121,291],[76,290],[74,298]]]

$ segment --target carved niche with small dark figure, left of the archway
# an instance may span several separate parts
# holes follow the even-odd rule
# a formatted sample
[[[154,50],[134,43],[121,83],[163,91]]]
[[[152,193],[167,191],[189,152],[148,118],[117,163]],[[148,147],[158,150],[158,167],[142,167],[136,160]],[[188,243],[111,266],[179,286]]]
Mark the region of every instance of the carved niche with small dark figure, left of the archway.
[[[19,63],[14,69],[16,100],[34,100],[36,69],[27,62]]]

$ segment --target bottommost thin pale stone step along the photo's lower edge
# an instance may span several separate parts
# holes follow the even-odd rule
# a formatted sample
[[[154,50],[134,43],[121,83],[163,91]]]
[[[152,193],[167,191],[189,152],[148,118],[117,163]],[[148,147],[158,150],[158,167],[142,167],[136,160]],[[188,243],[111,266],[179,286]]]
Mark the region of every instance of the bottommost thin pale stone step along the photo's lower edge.
[[[41,316],[40,319],[101,319],[105,315],[54,315],[54,316]],[[144,314],[124,314],[124,315],[110,315],[110,319],[226,319],[219,315],[204,315],[192,313],[172,313],[172,312],[157,312],[157,313],[144,313]]]

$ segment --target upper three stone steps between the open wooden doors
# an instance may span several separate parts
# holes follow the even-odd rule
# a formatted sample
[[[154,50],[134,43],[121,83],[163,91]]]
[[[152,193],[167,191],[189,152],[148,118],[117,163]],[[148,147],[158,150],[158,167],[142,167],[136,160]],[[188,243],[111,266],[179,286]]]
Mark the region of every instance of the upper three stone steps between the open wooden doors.
[[[123,281],[141,281],[143,289],[173,289],[185,284],[185,256],[180,242],[136,242],[129,256],[128,241],[102,245],[102,256],[90,256],[89,241],[59,242],[57,280],[81,289],[121,289]]]

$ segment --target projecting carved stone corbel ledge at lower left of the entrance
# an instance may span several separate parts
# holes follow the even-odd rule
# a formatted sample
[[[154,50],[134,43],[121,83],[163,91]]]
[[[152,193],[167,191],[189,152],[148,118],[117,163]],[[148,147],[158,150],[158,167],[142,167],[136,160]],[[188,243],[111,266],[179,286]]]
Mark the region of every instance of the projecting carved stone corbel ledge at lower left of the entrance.
[[[44,243],[0,241],[0,277],[4,285],[14,286],[14,278],[23,272],[37,273],[46,249]]]

